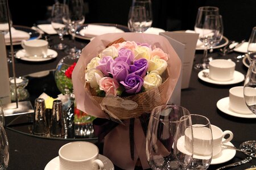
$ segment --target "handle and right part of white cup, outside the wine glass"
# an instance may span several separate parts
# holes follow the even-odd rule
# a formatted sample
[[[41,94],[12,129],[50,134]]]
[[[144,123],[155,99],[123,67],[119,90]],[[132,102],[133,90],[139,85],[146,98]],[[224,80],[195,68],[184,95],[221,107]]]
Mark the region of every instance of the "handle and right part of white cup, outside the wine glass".
[[[222,144],[228,143],[233,139],[233,133],[230,130],[222,131],[218,126],[210,125],[212,128],[212,137],[213,137],[213,155],[217,156],[222,151]],[[228,138],[225,138],[226,135],[229,135]]]

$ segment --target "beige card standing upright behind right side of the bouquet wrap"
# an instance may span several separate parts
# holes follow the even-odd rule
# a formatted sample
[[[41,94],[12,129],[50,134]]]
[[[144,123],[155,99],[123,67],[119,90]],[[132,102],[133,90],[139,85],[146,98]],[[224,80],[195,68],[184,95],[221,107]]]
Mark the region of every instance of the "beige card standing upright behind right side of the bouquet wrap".
[[[184,57],[181,59],[183,62],[182,64],[182,78],[181,78],[181,89],[188,88],[189,87],[189,81],[191,77],[191,71],[193,67],[193,59],[195,57],[195,51],[196,51],[196,42],[199,37],[198,33],[188,33],[188,32],[161,32],[160,35],[166,37],[169,41],[171,39],[175,39],[181,44],[185,45],[184,50]],[[175,51],[177,52],[177,48],[172,44]],[[177,53],[180,57],[179,53]]]

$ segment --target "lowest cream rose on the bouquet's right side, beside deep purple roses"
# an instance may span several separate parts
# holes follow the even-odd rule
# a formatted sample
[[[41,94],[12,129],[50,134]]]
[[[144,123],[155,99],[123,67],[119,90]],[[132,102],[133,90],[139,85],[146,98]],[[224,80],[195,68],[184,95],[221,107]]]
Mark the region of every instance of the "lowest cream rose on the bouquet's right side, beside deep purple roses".
[[[159,87],[162,84],[162,78],[159,75],[158,71],[151,71],[149,74],[144,76],[143,87],[146,91],[151,90],[152,88]]]

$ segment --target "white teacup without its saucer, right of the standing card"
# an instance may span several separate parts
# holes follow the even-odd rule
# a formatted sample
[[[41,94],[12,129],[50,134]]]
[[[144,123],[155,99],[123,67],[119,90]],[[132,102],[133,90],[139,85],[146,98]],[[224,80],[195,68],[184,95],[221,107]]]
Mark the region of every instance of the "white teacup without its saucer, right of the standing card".
[[[236,63],[228,59],[213,59],[209,62],[209,78],[225,82],[234,78]]]

